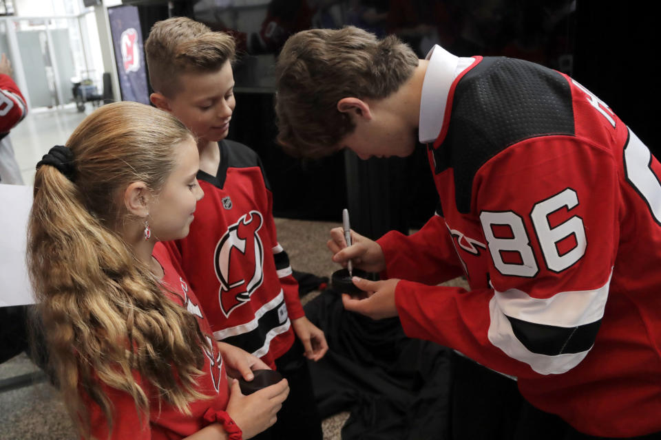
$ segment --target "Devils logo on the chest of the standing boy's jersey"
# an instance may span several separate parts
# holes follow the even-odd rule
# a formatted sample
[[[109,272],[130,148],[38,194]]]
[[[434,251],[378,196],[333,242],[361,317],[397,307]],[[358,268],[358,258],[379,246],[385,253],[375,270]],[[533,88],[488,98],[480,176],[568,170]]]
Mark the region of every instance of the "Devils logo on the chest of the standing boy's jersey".
[[[244,214],[227,228],[227,232],[216,245],[214,263],[216,276],[220,281],[218,300],[226,317],[229,317],[233,309],[249,301],[255,289],[262,285],[264,246],[257,233],[262,228],[262,223],[262,214],[259,212]],[[237,273],[238,276],[235,275]],[[244,273],[251,273],[251,278],[242,278]]]

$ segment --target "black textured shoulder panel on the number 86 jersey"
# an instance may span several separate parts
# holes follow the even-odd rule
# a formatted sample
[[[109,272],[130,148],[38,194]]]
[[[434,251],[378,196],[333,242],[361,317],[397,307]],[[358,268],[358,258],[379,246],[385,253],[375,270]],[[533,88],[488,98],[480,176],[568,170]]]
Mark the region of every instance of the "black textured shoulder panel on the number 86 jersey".
[[[556,134],[575,134],[565,77],[529,61],[485,57],[454,91],[448,134],[434,151],[436,172],[454,168],[457,208],[466,214],[483,164],[516,142]]]

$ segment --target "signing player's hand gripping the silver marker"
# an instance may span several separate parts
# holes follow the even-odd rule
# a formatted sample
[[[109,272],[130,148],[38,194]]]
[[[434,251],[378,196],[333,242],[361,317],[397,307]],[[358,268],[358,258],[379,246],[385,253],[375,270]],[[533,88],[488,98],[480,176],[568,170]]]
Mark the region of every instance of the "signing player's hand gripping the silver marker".
[[[386,269],[384,251],[376,241],[351,230],[351,245],[346,247],[344,230],[333,228],[330,230],[330,240],[326,242],[330,252],[333,252],[333,261],[346,267],[348,260],[353,261],[353,267],[367,272],[381,272]]]

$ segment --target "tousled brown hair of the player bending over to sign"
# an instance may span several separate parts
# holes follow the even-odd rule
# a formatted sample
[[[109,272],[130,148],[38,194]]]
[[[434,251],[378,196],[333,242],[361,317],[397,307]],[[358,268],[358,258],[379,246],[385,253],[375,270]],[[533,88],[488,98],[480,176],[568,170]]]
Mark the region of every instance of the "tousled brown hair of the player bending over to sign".
[[[354,129],[342,98],[386,98],[412,77],[418,57],[395,36],[378,40],[353,26],[298,32],[278,56],[278,142],[299,157],[333,153]]]

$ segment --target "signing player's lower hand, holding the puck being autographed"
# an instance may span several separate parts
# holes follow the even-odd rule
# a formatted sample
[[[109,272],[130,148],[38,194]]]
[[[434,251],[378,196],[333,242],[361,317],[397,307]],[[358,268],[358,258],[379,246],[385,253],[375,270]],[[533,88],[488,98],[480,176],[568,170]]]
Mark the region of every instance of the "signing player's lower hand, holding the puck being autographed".
[[[353,283],[360,289],[368,292],[365,299],[352,298],[342,294],[342,304],[349,311],[355,311],[372,319],[392,318],[397,316],[395,305],[395,288],[399,280],[391,278],[384,281],[369,281],[364,278],[353,277]]]

